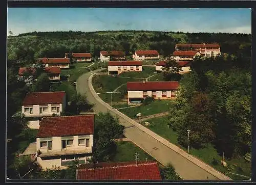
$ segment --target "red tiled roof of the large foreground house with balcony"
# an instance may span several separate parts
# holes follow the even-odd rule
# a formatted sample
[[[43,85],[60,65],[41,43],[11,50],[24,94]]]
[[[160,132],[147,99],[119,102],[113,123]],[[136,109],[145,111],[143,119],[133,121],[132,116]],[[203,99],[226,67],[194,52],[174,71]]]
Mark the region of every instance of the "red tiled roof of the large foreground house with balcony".
[[[44,117],[37,138],[79,136],[94,133],[94,114]]]

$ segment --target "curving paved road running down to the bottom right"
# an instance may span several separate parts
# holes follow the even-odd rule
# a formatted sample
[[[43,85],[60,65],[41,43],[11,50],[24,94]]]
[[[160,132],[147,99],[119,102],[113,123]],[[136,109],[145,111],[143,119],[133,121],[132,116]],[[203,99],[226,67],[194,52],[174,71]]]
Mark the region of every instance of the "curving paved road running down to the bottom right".
[[[118,117],[120,124],[125,126],[124,135],[126,138],[133,141],[136,145],[142,148],[145,152],[152,155],[157,161],[163,165],[171,163],[177,173],[185,180],[219,180],[216,176],[205,171],[201,167],[197,166],[193,162],[187,160],[184,156],[170,149],[162,142],[156,140],[152,136],[146,134],[138,127],[131,124],[127,119],[124,119],[120,115],[116,114],[107,108],[104,104],[95,97],[89,88],[88,78],[94,72],[98,72],[100,69],[85,73],[81,75],[77,80],[77,92],[80,94],[86,94],[91,103],[95,103],[94,111],[96,114],[99,112],[110,112],[114,117]],[[110,109],[110,110],[109,110]]]

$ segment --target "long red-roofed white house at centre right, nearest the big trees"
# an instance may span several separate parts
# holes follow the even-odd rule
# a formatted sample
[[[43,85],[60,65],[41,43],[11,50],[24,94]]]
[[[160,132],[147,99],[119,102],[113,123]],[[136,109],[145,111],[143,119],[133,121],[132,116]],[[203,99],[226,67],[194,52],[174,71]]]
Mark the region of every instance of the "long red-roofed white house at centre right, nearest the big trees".
[[[179,82],[127,82],[128,104],[141,103],[146,97],[173,99]]]

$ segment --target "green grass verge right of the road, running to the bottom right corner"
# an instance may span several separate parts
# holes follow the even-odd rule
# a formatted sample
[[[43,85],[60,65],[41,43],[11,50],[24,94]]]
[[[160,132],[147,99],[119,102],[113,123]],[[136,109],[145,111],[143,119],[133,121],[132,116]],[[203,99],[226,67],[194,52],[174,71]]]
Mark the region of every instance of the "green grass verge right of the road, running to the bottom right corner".
[[[122,110],[120,110],[120,111],[122,111]],[[146,121],[152,123],[152,125],[146,126],[147,128],[151,129],[156,134],[165,138],[169,142],[171,142],[171,143],[179,146],[183,150],[187,151],[187,148],[184,148],[178,144],[177,133],[175,131],[173,131],[171,128],[168,128],[168,126],[167,126],[167,123],[169,122],[168,116],[148,119]],[[195,155],[203,162],[209,164],[210,166],[214,167],[215,169],[217,169],[218,171],[220,171],[224,174],[226,174],[228,172],[228,169],[223,167],[220,163],[222,156],[220,156],[218,154],[217,150],[211,144],[208,144],[207,147],[202,148],[202,149],[190,148],[190,154]],[[216,158],[216,160],[218,161],[217,165],[212,164],[212,161],[214,158]],[[230,169],[230,172],[237,173],[240,175],[249,176],[249,177],[251,176],[250,175],[251,163],[246,162],[244,160],[244,158],[233,158],[232,160],[225,160],[225,162],[228,164],[228,166],[233,168],[233,169]],[[233,164],[236,164],[237,167],[233,166]],[[239,170],[239,167],[242,170],[241,169]],[[226,175],[234,180],[248,179],[246,177],[233,175],[231,173],[227,173]]]

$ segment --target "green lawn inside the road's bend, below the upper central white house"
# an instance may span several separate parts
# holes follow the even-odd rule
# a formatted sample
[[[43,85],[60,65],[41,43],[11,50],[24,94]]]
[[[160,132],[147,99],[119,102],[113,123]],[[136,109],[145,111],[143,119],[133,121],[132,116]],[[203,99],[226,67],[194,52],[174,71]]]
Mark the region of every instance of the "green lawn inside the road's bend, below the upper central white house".
[[[92,79],[93,88],[97,93],[100,92],[111,92],[117,87],[127,82],[141,81],[137,78],[119,78],[109,75],[94,75]],[[125,85],[124,85],[125,86]],[[102,89],[99,89],[99,88]],[[126,88],[126,86],[125,86]],[[119,91],[119,90],[118,90]]]

